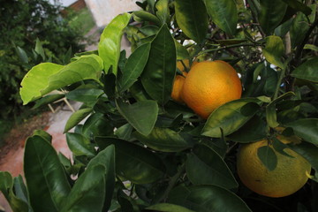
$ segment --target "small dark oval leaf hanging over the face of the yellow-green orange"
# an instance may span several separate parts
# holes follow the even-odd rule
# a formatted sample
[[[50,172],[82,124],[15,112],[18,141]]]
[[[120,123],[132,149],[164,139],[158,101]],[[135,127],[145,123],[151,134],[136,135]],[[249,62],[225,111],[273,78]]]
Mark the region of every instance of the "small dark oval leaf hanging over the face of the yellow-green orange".
[[[272,148],[263,146],[257,149],[257,155],[261,163],[265,165],[268,170],[275,170],[277,165],[277,156]]]

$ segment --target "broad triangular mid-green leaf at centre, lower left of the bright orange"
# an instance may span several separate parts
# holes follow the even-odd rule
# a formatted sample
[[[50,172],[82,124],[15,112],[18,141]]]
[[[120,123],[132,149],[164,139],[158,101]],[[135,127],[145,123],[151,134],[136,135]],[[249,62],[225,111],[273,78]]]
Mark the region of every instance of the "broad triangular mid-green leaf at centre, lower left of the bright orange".
[[[153,130],[158,116],[158,104],[155,101],[145,100],[133,104],[117,101],[117,109],[139,133],[148,135]]]

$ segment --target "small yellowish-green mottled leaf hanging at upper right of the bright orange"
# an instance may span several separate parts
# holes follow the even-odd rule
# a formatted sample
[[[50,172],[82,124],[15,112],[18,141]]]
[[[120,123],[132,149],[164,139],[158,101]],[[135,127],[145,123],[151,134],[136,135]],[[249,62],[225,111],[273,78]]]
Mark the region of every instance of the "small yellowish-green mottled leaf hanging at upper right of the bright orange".
[[[281,57],[284,55],[284,43],[280,37],[274,35],[266,37],[266,45],[262,49],[262,53],[269,63],[284,68],[281,60]]]

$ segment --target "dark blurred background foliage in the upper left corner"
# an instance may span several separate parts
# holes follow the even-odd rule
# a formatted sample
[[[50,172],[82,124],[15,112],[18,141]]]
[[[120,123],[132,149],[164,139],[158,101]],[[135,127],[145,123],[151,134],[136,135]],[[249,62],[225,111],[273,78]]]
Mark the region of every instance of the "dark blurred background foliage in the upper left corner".
[[[83,50],[83,35],[47,0],[0,1],[0,117],[19,115],[19,83],[27,71],[45,61],[65,61],[67,51]],[[36,41],[41,42],[36,42]],[[43,48],[42,48],[43,46]]]

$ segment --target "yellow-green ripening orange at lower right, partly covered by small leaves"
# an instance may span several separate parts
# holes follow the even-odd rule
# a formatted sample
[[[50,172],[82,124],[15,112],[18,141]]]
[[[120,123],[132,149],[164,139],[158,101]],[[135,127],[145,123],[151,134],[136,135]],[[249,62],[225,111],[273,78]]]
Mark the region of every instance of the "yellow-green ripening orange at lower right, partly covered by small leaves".
[[[296,136],[278,135],[276,138],[283,143],[300,141]],[[292,155],[289,157],[273,148],[277,156],[277,165],[275,170],[268,170],[257,155],[257,149],[265,145],[268,145],[268,140],[243,144],[239,148],[237,167],[242,183],[255,193],[269,197],[284,197],[297,192],[307,182],[310,164],[292,149],[284,149],[288,155]]]

